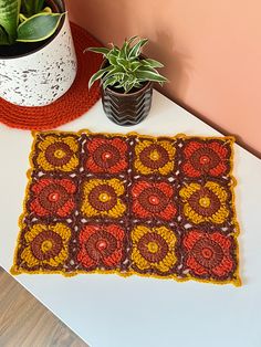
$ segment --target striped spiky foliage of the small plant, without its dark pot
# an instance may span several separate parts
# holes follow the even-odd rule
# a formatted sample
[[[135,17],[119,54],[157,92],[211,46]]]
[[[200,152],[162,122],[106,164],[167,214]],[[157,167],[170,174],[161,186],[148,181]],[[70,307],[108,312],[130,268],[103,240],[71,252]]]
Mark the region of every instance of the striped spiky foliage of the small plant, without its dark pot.
[[[105,67],[98,70],[90,78],[88,87],[97,80],[101,80],[104,88],[113,86],[122,88],[124,93],[133,88],[142,88],[144,83],[152,81],[163,85],[168,80],[160,75],[156,69],[164,65],[153,59],[140,57],[142,48],[148,42],[147,39],[133,36],[125,40],[123,46],[112,44],[107,48],[88,48],[86,51],[101,53],[107,61]]]

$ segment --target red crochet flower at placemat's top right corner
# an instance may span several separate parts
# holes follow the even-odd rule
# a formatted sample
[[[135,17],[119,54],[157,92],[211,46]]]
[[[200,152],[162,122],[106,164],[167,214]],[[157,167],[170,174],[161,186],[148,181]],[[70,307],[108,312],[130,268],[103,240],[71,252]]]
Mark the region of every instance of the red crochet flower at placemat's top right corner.
[[[182,170],[188,177],[225,175],[229,170],[229,151],[223,141],[190,140],[184,148]]]

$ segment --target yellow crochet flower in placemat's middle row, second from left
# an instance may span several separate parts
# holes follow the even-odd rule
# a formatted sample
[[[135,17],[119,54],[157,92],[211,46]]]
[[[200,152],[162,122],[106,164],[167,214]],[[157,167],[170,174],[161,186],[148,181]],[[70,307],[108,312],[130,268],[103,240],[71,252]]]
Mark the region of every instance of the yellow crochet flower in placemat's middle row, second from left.
[[[91,179],[83,186],[82,212],[86,217],[118,218],[126,210],[126,206],[119,199],[124,191],[123,182],[116,178]]]

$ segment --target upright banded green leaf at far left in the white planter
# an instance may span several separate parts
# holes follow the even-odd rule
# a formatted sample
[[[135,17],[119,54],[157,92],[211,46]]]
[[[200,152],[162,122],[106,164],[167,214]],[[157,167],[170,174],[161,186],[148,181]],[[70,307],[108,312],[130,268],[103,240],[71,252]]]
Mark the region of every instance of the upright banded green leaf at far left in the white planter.
[[[0,25],[8,34],[8,42],[12,44],[17,39],[17,27],[21,0],[0,0]]]

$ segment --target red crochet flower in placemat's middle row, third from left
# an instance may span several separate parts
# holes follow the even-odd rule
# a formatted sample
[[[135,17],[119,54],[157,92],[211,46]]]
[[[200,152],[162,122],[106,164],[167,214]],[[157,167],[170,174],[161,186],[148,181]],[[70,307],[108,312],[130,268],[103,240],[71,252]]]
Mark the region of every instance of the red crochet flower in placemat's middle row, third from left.
[[[174,189],[166,182],[138,181],[132,188],[133,212],[139,218],[171,220],[177,209]]]

